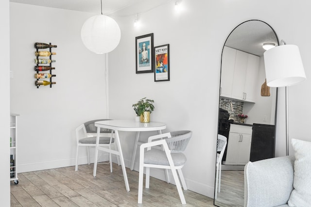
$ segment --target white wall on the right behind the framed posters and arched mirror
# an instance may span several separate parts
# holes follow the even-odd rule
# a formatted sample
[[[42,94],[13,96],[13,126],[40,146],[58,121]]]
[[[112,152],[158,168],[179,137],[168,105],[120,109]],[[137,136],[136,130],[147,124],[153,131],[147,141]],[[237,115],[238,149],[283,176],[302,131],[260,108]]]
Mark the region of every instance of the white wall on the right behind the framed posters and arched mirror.
[[[179,15],[174,12],[174,1],[139,14],[142,24],[139,29],[133,27],[134,17],[117,18],[122,35],[118,48],[109,54],[109,113],[113,119],[134,119],[131,105],[143,97],[154,99],[152,121],[167,123],[166,131],[193,131],[186,151],[186,182],[190,190],[213,197],[221,51],[227,35],[245,20],[267,22],[279,39],[298,45],[309,77],[311,60],[307,40],[311,29],[306,25],[311,3],[307,0],[183,0],[182,4],[185,10]],[[154,33],[155,46],[170,44],[169,82],[154,82],[152,73],[135,74],[135,37],[149,33]],[[291,138],[311,140],[307,130],[310,84],[307,80],[290,87]],[[279,93],[284,91],[280,89]],[[280,156],[285,155],[282,95],[278,103],[276,155]],[[133,136],[123,137],[127,162]]]

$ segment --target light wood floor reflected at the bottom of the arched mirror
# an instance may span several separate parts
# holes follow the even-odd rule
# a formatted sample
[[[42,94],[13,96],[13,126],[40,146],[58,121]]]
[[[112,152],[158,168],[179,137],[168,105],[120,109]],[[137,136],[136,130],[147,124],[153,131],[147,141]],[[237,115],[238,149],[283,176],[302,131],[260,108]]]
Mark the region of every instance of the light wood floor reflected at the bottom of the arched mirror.
[[[220,192],[215,205],[220,207],[244,206],[244,171],[222,171]]]

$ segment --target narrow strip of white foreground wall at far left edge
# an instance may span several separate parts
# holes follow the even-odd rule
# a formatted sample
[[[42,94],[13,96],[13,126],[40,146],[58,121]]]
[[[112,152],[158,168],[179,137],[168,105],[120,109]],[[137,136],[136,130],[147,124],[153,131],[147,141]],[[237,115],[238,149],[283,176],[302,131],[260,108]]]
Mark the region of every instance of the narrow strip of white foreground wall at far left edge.
[[[0,1],[0,201],[1,206],[10,206],[10,22],[9,0]]]

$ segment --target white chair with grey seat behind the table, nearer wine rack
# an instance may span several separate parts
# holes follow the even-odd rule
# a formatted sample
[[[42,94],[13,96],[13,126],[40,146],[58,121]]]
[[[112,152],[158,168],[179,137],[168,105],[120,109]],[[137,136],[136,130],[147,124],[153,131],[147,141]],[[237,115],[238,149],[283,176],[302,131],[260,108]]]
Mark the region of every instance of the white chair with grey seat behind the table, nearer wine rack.
[[[87,121],[76,128],[76,139],[77,139],[77,155],[76,155],[76,167],[75,171],[78,171],[78,155],[79,147],[87,147],[87,163],[89,161],[89,147],[96,147],[96,136],[97,136],[97,127],[95,126],[96,121],[105,121],[107,119],[99,119]],[[111,148],[111,144],[114,143],[113,134],[114,131],[111,129],[101,128],[100,131],[99,146]],[[118,157],[117,157],[118,158]],[[109,153],[109,162],[110,163],[110,172],[112,173],[112,162],[111,154]],[[119,164],[119,159],[118,159]]]

